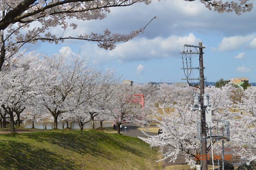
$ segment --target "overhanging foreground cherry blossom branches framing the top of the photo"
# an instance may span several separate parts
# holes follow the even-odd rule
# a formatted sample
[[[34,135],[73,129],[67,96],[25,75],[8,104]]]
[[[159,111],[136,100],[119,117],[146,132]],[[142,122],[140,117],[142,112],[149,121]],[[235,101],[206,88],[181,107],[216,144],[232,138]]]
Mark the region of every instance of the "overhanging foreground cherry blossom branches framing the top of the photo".
[[[193,1],[193,0],[187,0]],[[253,4],[249,0],[238,2],[222,2],[215,0],[201,0],[210,10],[223,12],[242,12],[252,10]],[[2,66],[10,66],[10,57],[26,43],[35,44],[37,41],[55,43],[67,39],[88,40],[98,42],[104,49],[114,49],[115,43],[127,42],[143,32],[144,28],[129,34],[112,34],[105,29],[104,34],[90,33],[75,37],[64,37],[47,32],[51,27],[61,26],[63,32],[67,28],[77,28],[77,24],[69,23],[70,19],[93,20],[103,19],[110,13],[112,7],[124,7],[134,3],[150,4],[151,0],[2,0],[0,2],[0,70]],[[156,18],[156,17],[155,17]],[[32,27],[33,24],[38,25]]]

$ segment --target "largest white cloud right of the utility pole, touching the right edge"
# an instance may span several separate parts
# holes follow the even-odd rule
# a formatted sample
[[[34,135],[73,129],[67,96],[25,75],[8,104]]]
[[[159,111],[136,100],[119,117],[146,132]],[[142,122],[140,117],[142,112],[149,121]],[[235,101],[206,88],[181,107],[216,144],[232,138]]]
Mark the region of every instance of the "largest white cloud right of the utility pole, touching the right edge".
[[[214,52],[217,51],[232,51],[240,49],[242,46],[247,45],[255,37],[255,35],[247,36],[231,36],[224,37],[222,42],[218,44],[218,47],[211,47],[211,50]]]

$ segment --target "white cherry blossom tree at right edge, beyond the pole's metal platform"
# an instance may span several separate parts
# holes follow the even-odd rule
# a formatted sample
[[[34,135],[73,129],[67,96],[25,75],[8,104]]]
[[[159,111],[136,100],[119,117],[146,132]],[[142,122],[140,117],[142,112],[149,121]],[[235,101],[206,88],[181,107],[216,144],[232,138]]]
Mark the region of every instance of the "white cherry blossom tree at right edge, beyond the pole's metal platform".
[[[243,90],[242,90],[243,91]],[[237,101],[235,108],[241,110],[236,114],[236,119],[231,120],[233,133],[231,139],[233,146],[240,146],[235,150],[247,161],[256,159],[256,87],[247,87],[243,91],[241,101]],[[241,114],[242,112],[242,114]]]

